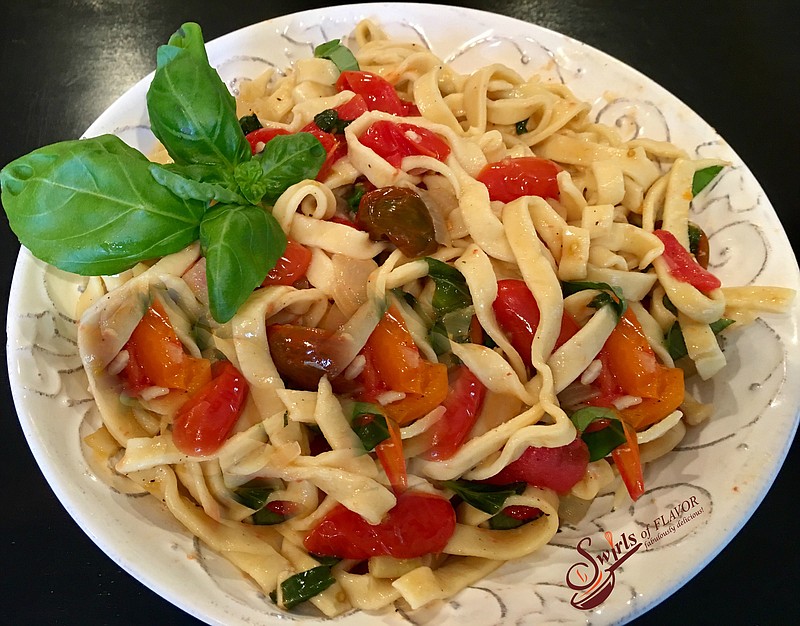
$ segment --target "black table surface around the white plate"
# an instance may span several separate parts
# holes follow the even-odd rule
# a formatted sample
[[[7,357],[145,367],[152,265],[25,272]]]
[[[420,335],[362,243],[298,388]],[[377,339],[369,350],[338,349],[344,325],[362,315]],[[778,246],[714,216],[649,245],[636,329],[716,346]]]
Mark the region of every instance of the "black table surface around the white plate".
[[[453,2],[455,4],[455,2]],[[282,13],[333,3],[239,0],[12,0],[0,10],[0,166],[81,135],[155,67],[184,21],[207,40]],[[800,44],[793,2],[462,1],[591,44],[650,76],[727,139],[766,189],[795,249]],[[2,307],[19,244],[0,219]],[[5,342],[3,342],[5,345]],[[192,624],[121,570],[72,521],[22,435],[2,374],[0,621]],[[724,462],[724,461],[723,461]],[[731,544],[641,624],[800,623],[795,442],[774,486]],[[658,572],[653,572],[658,575]],[[794,617],[793,617],[794,616]]]

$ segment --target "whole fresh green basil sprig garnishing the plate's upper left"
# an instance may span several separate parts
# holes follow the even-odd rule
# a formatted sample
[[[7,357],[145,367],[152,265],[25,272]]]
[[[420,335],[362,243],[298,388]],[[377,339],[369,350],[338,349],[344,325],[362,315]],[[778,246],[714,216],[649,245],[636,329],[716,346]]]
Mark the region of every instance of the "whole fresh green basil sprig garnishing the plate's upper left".
[[[112,135],[39,148],[0,171],[9,223],[36,257],[83,275],[116,274],[199,239],[211,314],[226,322],[286,247],[264,204],[315,178],[325,149],[296,133],[253,157],[194,23],[159,48],[147,110],[174,163],[151,163]]]

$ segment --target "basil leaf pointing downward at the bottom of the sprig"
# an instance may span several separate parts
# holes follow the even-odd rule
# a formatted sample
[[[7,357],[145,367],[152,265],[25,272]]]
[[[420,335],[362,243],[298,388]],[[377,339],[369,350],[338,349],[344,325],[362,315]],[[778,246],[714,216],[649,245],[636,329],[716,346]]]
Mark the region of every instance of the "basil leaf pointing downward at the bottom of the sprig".
[[[286,248],[286,235],[260,207],[219,204],[203,217],[200,245],[211,315],[223,323],[264,281]]]

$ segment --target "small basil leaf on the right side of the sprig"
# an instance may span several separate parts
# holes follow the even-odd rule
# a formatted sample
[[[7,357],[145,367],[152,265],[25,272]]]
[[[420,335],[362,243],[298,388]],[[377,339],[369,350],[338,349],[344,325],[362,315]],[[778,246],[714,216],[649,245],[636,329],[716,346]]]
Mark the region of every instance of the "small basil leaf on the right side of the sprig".
[[[270,140],[255,157],[264,170],[264,201],[274,204],[295,183],[313,180],[319,174],[325,157],[325,148],[310,133],[278,135]]]

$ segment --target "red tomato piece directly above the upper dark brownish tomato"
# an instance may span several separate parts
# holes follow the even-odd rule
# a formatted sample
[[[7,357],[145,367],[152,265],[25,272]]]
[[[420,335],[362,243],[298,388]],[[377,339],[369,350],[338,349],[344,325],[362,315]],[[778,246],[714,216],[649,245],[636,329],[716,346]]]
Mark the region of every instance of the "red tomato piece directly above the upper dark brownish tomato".
[[[407,156],[429,156],[444,161],[450,154],[450,146],[427,128],[388,120],[373,123],[358,141],[397,168]]]

